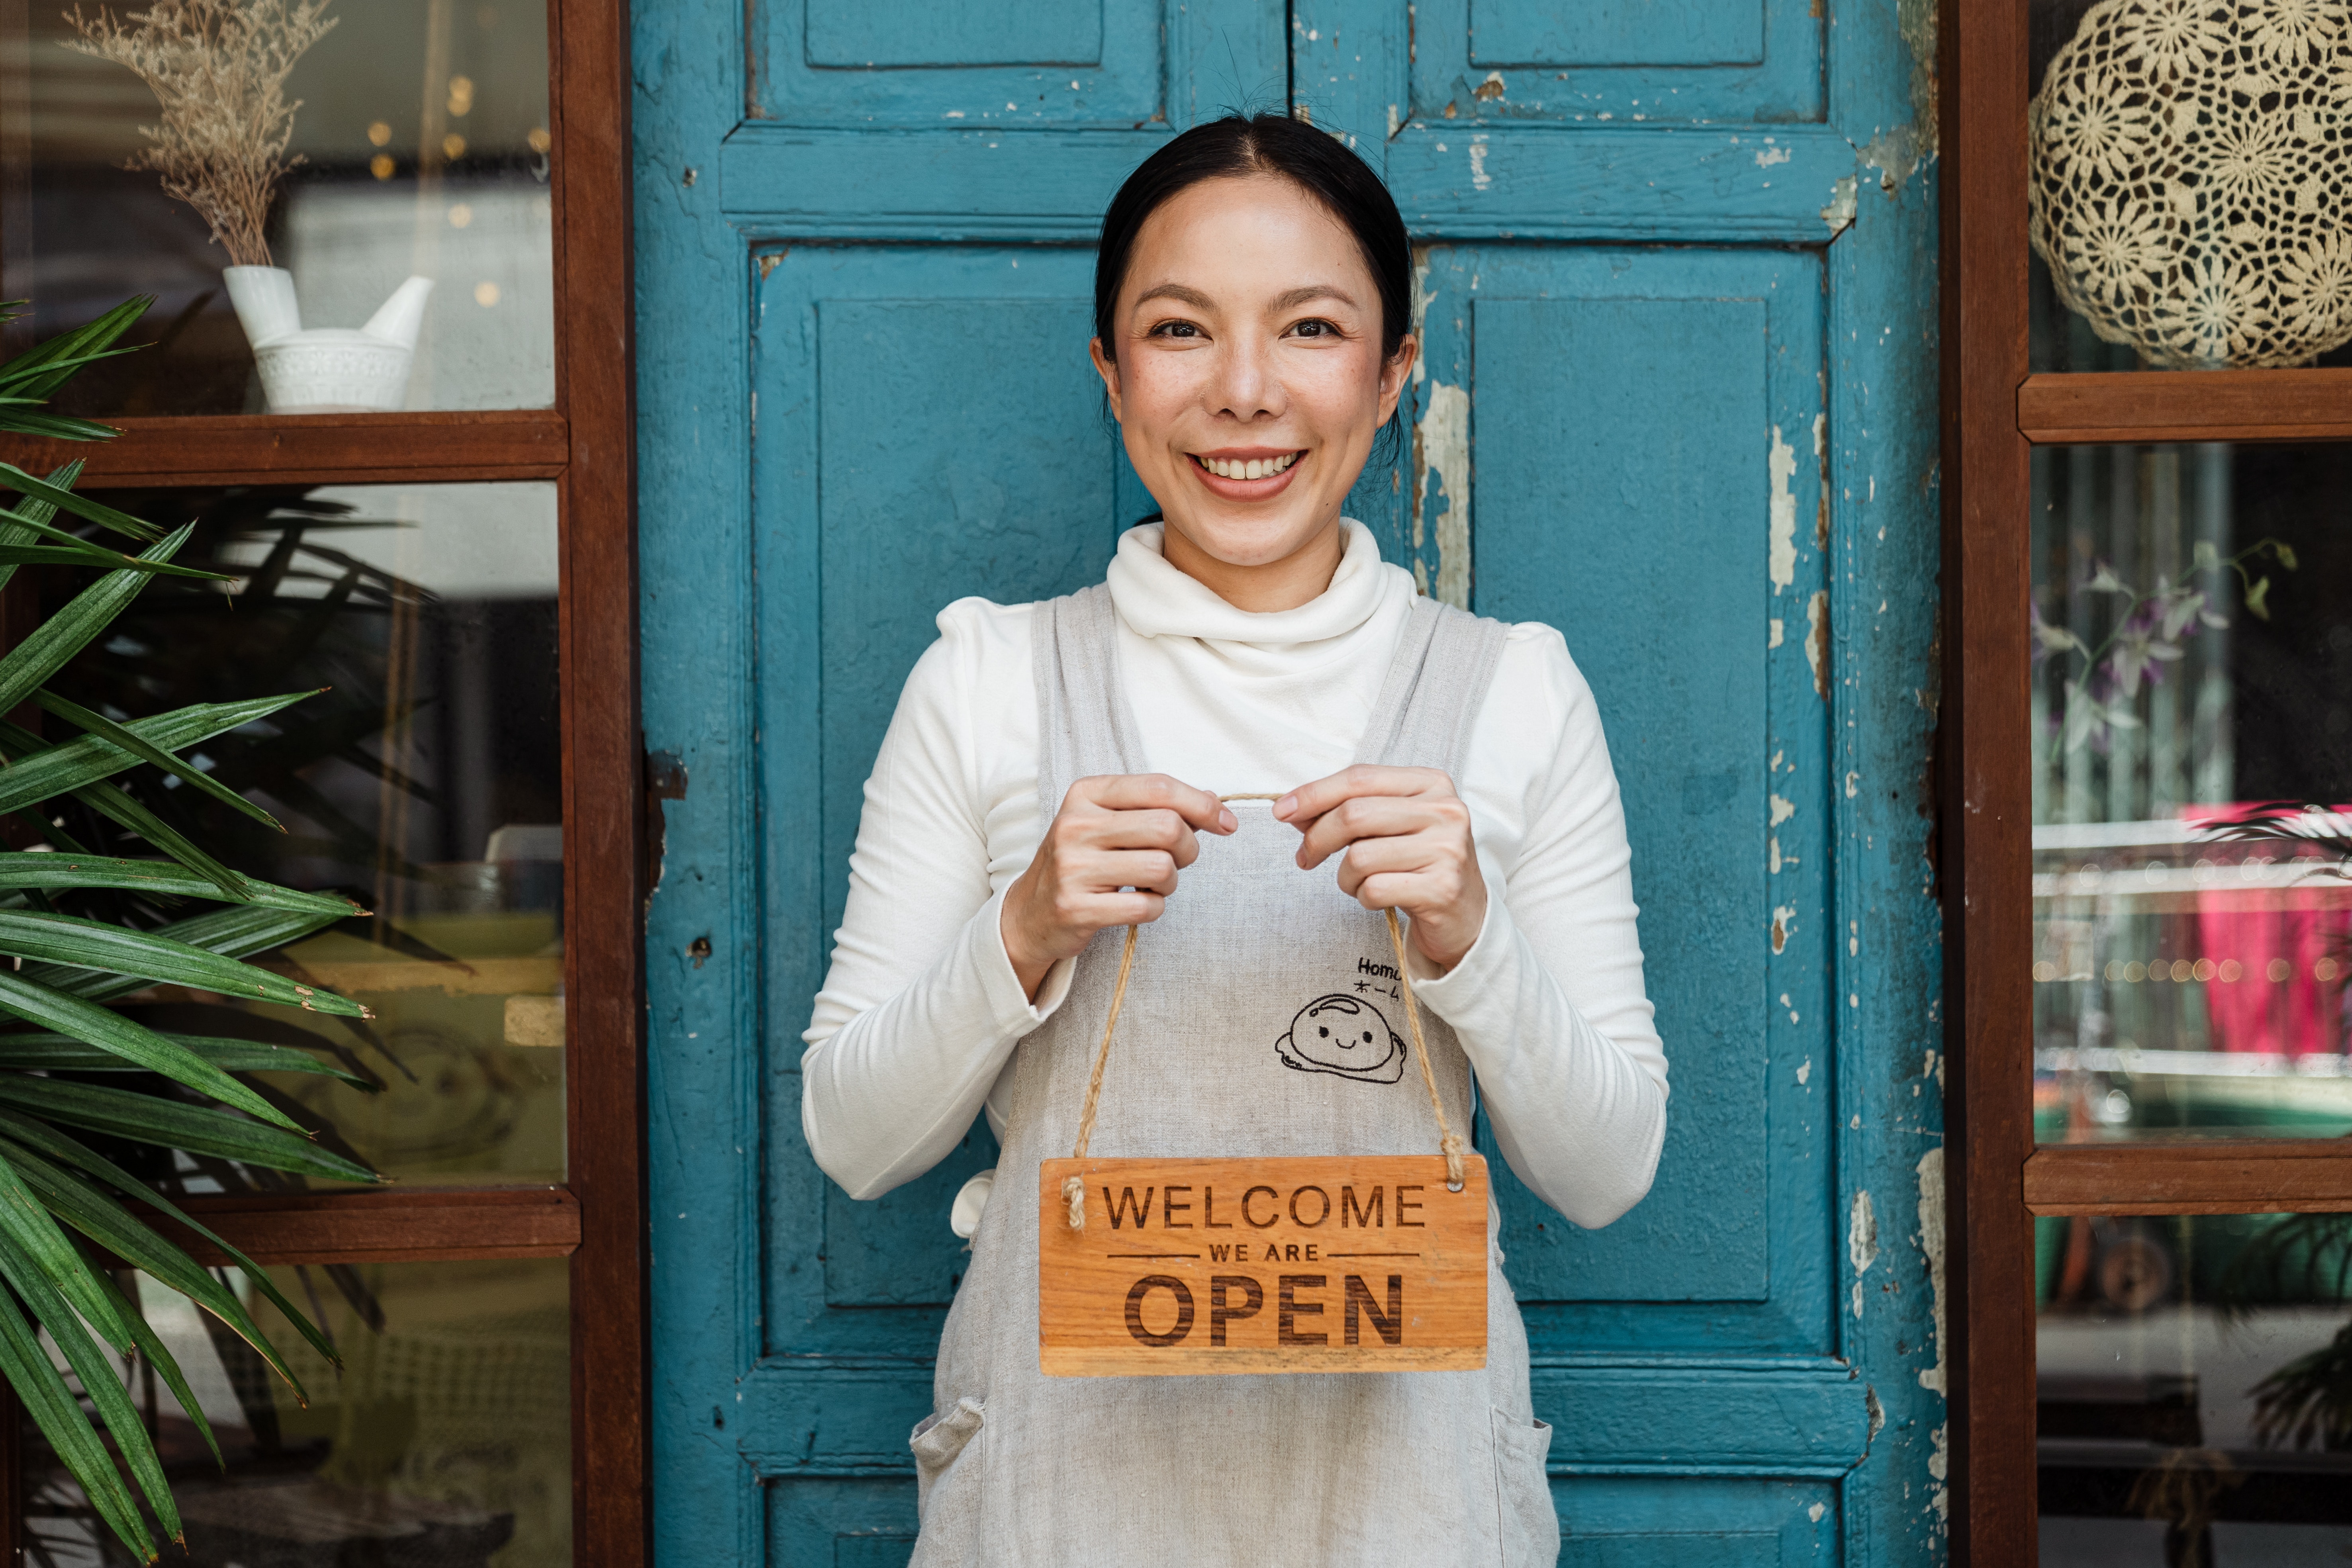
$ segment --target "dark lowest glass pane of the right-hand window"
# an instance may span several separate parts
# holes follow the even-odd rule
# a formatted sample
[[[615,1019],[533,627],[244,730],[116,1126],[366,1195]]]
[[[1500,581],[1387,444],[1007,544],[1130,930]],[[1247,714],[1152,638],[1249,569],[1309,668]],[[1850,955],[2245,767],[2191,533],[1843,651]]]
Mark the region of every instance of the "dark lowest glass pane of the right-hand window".
[[[2352,1215],[2034,1241],[2044,1568],[2352,1559]]]

